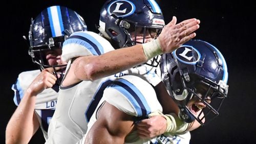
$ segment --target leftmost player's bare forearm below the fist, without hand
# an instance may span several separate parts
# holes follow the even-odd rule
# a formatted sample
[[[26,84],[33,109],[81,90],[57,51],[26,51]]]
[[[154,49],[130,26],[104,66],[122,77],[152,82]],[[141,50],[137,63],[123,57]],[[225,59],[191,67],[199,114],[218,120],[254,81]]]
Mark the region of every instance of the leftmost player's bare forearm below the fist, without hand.
[[[35,97],[25,93],[6,127],[6,143],[28,143],[38,129],[34,115]]]

